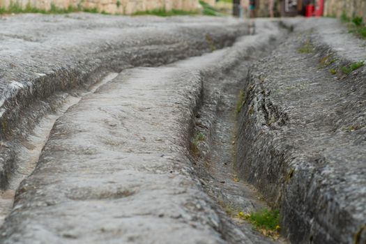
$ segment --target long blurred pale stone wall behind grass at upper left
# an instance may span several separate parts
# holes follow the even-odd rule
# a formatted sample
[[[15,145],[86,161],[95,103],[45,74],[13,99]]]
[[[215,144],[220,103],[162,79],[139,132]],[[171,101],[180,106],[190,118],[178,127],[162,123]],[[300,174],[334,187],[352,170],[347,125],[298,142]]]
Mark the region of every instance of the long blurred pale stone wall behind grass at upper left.
[[[214,5],[215,0],[204,0]],[[17,3],[25,8],[28,4],[32,7],[49,10],[54,4],[57,8],[97,8],[99,12],[119,13],[130,15],[132,13],[162,9],[180,9],[196,11],[201,7],[199,0],[0,0],[0,7],[8,8],[10,3]]]

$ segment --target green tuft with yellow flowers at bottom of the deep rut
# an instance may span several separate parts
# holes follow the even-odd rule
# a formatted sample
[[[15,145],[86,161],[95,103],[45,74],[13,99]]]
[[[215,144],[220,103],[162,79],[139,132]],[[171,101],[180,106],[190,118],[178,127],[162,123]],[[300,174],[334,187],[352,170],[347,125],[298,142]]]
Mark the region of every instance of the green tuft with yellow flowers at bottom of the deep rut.
[[[266,236],[278,237],[278,231],[280,230],[280,211],[278,210],[265,208],[262,211],[247,214],[239,212],[238,218],[249,221]]]

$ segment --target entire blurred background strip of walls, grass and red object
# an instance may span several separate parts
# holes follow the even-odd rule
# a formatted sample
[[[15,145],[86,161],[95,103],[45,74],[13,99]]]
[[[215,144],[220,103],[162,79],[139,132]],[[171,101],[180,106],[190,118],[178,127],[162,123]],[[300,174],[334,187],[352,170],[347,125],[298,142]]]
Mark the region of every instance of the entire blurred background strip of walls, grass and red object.
[[[366,18],[365,0],[0,0],[0,14],[91,12],[121,15]],[[273,15],[271,16],[271,11]]]

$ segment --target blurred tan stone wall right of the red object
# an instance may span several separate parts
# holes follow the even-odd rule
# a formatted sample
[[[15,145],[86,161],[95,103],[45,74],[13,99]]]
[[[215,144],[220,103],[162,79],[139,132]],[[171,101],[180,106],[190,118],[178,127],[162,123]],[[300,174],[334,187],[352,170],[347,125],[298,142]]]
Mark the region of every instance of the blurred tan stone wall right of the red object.
[[[340,17],[342,13],[347,17],[363,17],[366,20],[366,1],[365,0],[326,0],[324,15]]]

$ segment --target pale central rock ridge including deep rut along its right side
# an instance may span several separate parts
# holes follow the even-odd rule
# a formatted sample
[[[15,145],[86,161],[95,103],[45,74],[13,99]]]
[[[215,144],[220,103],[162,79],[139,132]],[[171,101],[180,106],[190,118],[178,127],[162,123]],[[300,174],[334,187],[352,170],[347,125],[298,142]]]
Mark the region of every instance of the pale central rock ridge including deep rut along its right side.
[[[53,118],[0,241],[273,243],[224,212],[266,208],[232,158],[241,82],[286,33],[257,29],[211,54],[124,70]]]

